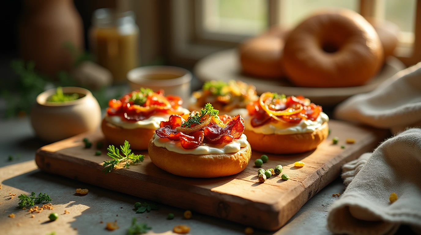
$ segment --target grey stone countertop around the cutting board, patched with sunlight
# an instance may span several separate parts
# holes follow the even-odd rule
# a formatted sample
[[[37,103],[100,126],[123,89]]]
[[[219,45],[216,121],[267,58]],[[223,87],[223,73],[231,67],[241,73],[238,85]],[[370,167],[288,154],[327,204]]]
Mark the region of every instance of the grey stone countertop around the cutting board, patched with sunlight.
[[[186,224],[189,234],[244,234],[245,226],[193,211],[192,219],[182,219],[184,210],[158,204],[159,210],[136,214],[133,204],[144,202],[141,198],[106,190],[90,184],[77,182],[62,176],[41,172],[34,161],[35,151],[46,143],[38,140],[30,126],[29,119],[1,120],[0,122],[0,224],[2,234],[40,234],[55,231],[61,234],[126,234],[133,217],[137,222],[146,222],[152,230],[148,234],[173,234],[172,228]],[[12,155],[13,160],[8,160]],[[87,188],[84,196],[75,194],[76,188]],[[311,198],[298,213],[278,231],[255,230],[254,234],[331,234],[326,228],[328,208],[338,198],[333,193],[342,193],[344,185],[337,179]],[[32,218],[27,210],[18,209],[18,195],[45,192],[53,199],[53,210],[42,211]],[[9,192],[16,197],[9,199]],[[69,214],[64,214],[64,210]],[[49,222],[51,212],[59,214],[59,219]],[[8,217],[15,214],[15,218]],[[175,219],[168,220],[168,213]],[[107,222],[120,227],[109,232]],[[102,222],[102,223],[101,223]],[[5,232],[5,233],[3,233]]]

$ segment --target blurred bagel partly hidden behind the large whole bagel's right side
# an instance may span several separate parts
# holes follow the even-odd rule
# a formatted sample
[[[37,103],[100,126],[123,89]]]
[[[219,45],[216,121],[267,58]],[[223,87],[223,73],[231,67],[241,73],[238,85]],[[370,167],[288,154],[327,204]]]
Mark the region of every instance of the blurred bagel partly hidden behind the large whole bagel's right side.
[[[384,59],[386,59],[387,56],[392,56],[398,43],[399,27],[384,19],[376,19],[373,17],[368,17],[366,19],[373,25],[374,29],[376,29],[381,45],[383,46]]]

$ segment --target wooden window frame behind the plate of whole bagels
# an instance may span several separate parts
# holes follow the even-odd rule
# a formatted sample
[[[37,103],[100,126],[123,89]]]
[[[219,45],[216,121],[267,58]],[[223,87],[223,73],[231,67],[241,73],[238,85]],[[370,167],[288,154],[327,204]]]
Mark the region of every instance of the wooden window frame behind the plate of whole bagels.
[[[266,0],[268,12],[268,28],[281,25],[282,9],[286,1]],[[210,53],[227,48],[233,48],[248,37],[254,35],[206,32],[203,26],[203,0],[171,0],[171,56],[170,62],[180,65],[193,65]],[[364,17],[384,18],[385,0],[359,0],[360,14]],[[421,0],[416,1],[414,33],[403,33],[395,56],[407,66],[417,63],[421,59]],[[413,43],[411,43],[411,41]]]

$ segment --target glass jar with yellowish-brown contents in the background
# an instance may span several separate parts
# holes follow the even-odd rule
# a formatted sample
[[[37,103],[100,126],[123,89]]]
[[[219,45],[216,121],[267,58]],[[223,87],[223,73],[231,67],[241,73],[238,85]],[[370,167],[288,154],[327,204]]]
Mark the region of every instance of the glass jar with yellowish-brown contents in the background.
[[[111,71],[115,83],[126,81],[127,72],[138,67],[139,27],[133,11],[117,13],[101,8],[93,13],[89,32],[96,61]]]

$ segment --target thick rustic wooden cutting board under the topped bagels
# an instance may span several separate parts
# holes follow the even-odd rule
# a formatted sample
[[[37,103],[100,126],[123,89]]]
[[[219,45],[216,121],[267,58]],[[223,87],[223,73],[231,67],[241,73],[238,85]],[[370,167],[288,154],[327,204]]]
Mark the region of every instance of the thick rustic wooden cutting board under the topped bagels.
[[[278,175],[259,183],[257,170],[260,167],[254,166],[254,160],[262,153],[256,151],[247,168],[233,176],[212,179],[175,176],[157,168],[147,152],[141,152],[145,155],[143,163],[104,174],[102,162],[108,159],[105,144],[102,154],[95,156],[96,142],[103,141],[101,131],[44,146],[37,151],[35,160],[41,170],[49,173],[251,227],[277,230],[307,200],[339,176],[342,164],[372,151],[388,136],[388,131],[335,120],[331,120],[329,126],[331,133],[317,150],[296,155],[267,154],[269,160],[262,168],[282,165],[282,173],[291,178],[287,181]],[[338,144],[332,144],[333,136],[339,137]],[[93,143],[91,149],[84,148],[84,137]],[[345,144],[347,137],[357,141]],[[345,148],[341,149],[341,145]],[[305,166],[294,167],[296,161],[303,161]]]

